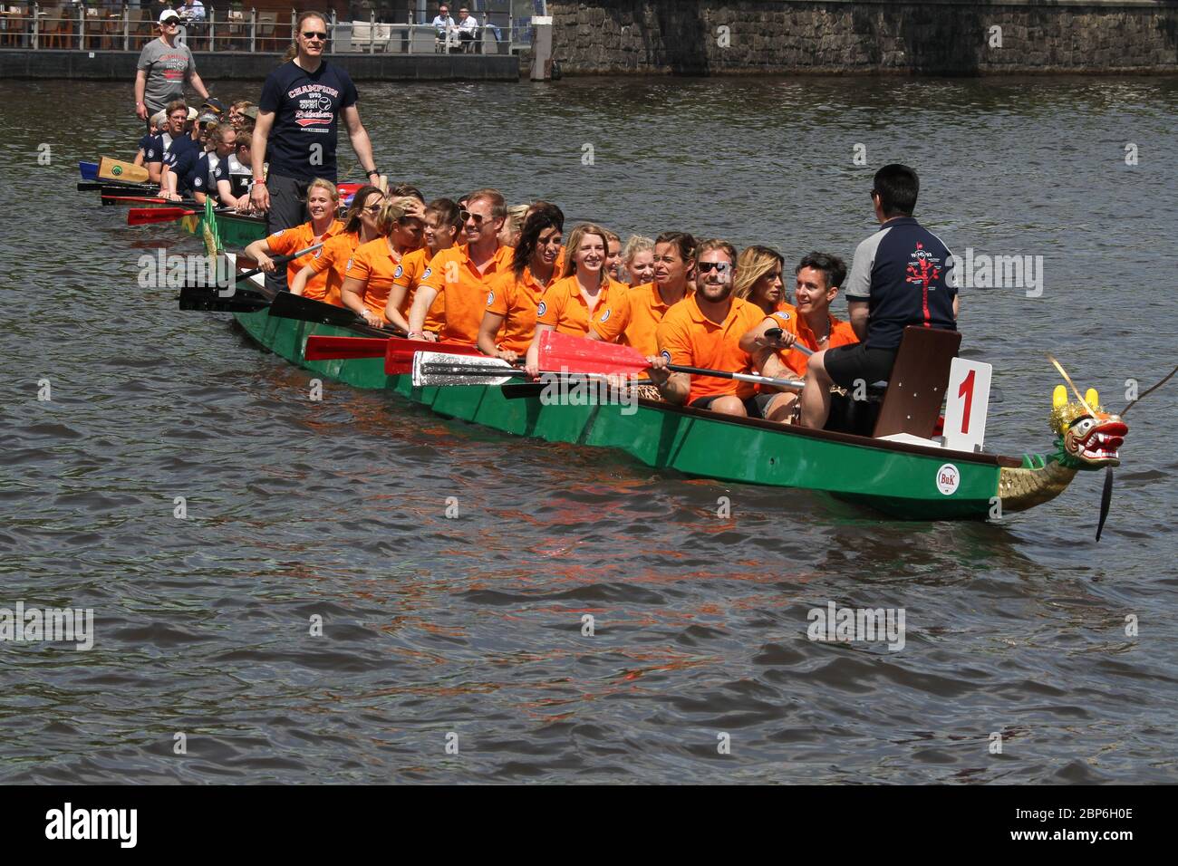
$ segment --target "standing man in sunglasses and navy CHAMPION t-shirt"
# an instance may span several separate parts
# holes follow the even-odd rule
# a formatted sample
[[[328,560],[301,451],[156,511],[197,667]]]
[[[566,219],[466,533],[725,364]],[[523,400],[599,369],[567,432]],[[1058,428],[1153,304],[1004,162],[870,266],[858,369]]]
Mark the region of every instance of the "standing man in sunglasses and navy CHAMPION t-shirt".
[[[323,59],[327,22],[304,12],[294,27],[286,62],[266,77],[253,130],[253,189],[250,203],[266,211],[266,232],[305,222],[306,185],[315,178],[336,180],[336,138],[344,118],[352,150],[368,177],[377,183],[372,143],[360,123],[356,85],[348,73]],[[263,164],[270,163],[269,176]],[[286,271],[266,275],[274,289],[286,289]]]

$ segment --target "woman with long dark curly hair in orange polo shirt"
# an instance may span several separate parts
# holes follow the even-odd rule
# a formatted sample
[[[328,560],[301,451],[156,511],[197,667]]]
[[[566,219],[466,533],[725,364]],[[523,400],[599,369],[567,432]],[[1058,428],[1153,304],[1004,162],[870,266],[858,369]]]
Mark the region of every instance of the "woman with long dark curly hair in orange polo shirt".
[[[556,276],[564,214],[545,204],[523,224],[511,270],[496,277],[487,293],[487,310],[478,328],[478,348],[510,363],[528,351],[536,331],[536,309]]]

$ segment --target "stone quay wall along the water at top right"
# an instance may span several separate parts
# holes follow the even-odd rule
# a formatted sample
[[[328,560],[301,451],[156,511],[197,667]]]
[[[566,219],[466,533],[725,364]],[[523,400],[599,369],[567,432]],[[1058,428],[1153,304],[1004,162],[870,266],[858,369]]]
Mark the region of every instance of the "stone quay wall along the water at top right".
[[[549,0],[561,74],[1174,73],[1178,0]]]

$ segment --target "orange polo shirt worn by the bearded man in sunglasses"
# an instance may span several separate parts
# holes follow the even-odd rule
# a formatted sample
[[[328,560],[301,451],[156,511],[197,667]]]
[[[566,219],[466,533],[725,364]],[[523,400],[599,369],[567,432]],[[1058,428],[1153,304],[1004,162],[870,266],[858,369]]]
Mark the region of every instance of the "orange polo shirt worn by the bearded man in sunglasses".
[[[753,358],[740,348],[740,338],[765,319],[765,310],[741,298],[732,298],[732,306],[722,323],[715,323],[700,311],[697,296],[673,304],[659,325],[659,350],[670,357],[670,363],[684,366],[704,366],[726,372],[752,372]],[[740,399],[753,396],[756,386],[749,382],[693,376],[688,403],[700,397],[734,394]]]

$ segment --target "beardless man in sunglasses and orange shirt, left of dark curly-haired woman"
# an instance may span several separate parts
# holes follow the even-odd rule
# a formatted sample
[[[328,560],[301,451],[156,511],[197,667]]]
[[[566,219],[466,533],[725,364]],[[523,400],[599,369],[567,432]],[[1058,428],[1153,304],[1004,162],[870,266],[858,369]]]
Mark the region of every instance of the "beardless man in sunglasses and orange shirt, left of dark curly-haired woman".
[[[466,197],[466,210],[462,212],[465,243],[442,250],[430,259],[409,311],[410,338],[435,338],[424,330],[424,324],[441,293],[445,324],[436,338],[475,344],[488,286],[495,277],[511,270],[512,250],[501,246],[498,240],[507,213],[507,201],[498,190],[475,190]]]

